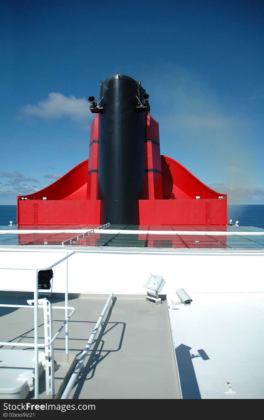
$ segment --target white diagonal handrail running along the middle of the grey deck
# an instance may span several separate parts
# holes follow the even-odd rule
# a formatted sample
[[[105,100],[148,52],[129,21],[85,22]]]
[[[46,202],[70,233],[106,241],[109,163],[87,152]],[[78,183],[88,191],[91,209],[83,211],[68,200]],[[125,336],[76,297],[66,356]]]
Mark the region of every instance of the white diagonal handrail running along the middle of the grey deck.
[[[90,336],[90,338],[89,338],[89,340],[88,340],[88,342],[87,342],[87,344],[86,344],[86,346],[84,348],[84,351],[81,354],[81,357],[80,357],[80,359],[79,359],[79,361],[78,361],[78,363],[77,363],[77,365],[76,365],[76,367],[74,369],[74,372],[71,375],[71,378],[69,379],[68,384],[66,385],[65,390],[63,391],[62,396],[60,397],[61,399],[67,399],[68,396],[70,395],[70,392],[71,392],[71,390],[72,390],[72,388],[74,386],[74,383],[75,383],[76,379],[78,378],[79,373],[81,371],[81,367],[84,364],[84,360],[85,360],[85,358],[87,356],[87,353],[89,352],[89,349],[91,347],[91,344],[94,341],[94,338],[95,338],[95,336],[96,336],[96,334],[98,332],[99,326],[102,324],[102,320],[103,320],[103,318],[105,316],[105,312],[107,311],[107,308],[109,307],[110,302],[111,302],[112,299],[114,299],[114,294],[113,293],[111,293],[110,296],[109,296],[109,298],[107,299],[107,302],[105,304],[105,307],[102,310],[102,313],[101,313],[101,315],[98,318],[98,321],[97,321],[97,323],[96,323],[96,325],[94,327],[93,332],[91,333],[91,336]]]

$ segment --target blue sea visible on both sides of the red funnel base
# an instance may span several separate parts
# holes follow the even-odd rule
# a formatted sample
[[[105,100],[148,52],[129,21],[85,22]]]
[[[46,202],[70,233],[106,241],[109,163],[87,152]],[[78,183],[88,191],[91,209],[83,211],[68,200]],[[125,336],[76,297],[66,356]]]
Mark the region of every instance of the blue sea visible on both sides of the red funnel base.
[[[240,226],[255,226],[264,229],[264,204],[227,205],[227,220],[239,221]],[[0,205],[0,226],[8,226],[9,220],[16,224],[16,205]]]

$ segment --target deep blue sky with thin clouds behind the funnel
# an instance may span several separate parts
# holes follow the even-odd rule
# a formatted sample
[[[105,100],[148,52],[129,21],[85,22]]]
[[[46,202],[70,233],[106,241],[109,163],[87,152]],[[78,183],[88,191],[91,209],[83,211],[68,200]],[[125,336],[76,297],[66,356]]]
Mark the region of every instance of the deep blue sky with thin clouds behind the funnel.
[[[161,153],[229,204],[264,204],[263,2],[0,2],[0,204],[86,159],[87,98],[141,80]]]

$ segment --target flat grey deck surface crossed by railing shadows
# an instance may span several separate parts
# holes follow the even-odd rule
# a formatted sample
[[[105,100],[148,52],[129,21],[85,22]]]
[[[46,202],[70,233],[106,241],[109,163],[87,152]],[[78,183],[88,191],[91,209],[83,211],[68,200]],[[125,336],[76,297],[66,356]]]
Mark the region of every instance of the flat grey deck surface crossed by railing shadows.
[[[52,304],[63,304],[63,299],[55,294],[53,296]],[[73,295],[69,299],[69,306],[76,308],[69,322],[69,349],[77,357],[84,349],[107,300],[97,296],[87,298],[84,295]],[[0,303],[25,304],[28,298],[29,296],[22,293],[16,297],[4,293],[0,294]],[[63,310],[53,311],[53,333],[62,324],[63,317]],[[39,310],[39,337],[42,338],[39,341],[43,341],[42,324],[42,310]],[[1,341],[33,342],[33,310],[0,308],[0,337]],[[55,353],[63,352],[64,337],[62,332],[55,341]],[[95,350],[90,359],[87,356],[83,374],[69,398],[180,398],[166,302],[155,306],[152,302],[145,302],[144,297],[117,296],[110,319]],[[92,352],[91,347],[89,354]],[[65,375],[61,373],[60,369],[55,372],[57,388]],[[40,387],[41,391],[43,390]],[[40,398],[43,397],[44,393],[40,395]]]

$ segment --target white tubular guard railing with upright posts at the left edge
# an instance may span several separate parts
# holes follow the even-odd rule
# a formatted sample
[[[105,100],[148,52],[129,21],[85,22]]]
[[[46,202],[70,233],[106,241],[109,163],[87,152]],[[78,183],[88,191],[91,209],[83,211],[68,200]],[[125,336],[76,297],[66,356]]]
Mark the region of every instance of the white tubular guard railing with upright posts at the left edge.
[[[68,258],[71,257],[71,255],[75,254],[75,252],[67,252],[67,254],[60,258],[60,260],[57,260],[51,265],[44,266],[43,268],[19,268],[19,267],[0,267],[1,270],[30,270],[33,271],[34,274],[34,306],[29,305],[11,305],[11,304],[0,304],[1,307],[24,307],[24,308],[34,308],[34,344],[32,343],[17,343],[17,342],[0,342],[0,346],[20,346],[20,347],[32,347],[34,348],[34,361],[35,361],[35,367],[34,367],[34,398],[38,399],[39,397],[39,349],[44,348],[47,346],[51,346],[52,343],[55,341],[55,339],[58,337],[62,329],[65,327],[65,353],[68,355],[69,352],[69,346],[68,346],[68,320],[73,315],[73,312],[75,309],[73,307],[68,306]],[[38,300],[38,272],[39,270],[51,270],[56,265],[60,264],[60,262],[66,260],[66,276],[65,276],[65,306],[53,306],[53,309],[64,309],[65,310],[65,320],[57,333],[52,337],[51,341],[48,341],[47,343],[39,344],[39,322],[38,322],[38,308],[43,308],[42,305],[39,305]],[[68,315],[68,310],[71,309],[70,315]]]

